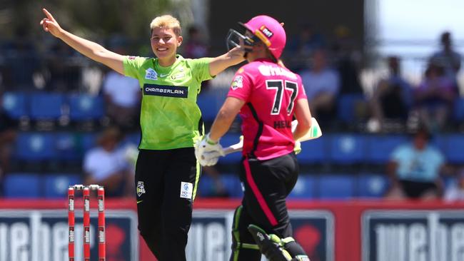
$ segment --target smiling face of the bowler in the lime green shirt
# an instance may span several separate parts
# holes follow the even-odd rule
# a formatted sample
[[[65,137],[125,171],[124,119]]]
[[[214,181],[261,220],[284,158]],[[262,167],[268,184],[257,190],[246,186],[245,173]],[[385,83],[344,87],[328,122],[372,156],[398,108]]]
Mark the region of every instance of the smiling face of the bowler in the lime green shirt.
[[[171,66],[176,61],[177,47],[181,44],[182,36],[176,36],[173,29],[163,26],[151,31],[151,50],[161,66]]]

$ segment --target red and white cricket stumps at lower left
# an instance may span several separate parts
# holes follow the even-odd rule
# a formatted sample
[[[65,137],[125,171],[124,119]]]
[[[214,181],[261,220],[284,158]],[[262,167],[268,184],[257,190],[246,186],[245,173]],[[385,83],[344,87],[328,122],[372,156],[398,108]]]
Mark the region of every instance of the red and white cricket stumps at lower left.
[[[68,188],[69,261],[74,261],[75,190],[82,190],[82,197],[84,198],[84,261],[90,261],[90,190],[97,190],[99,201],[99,261],[105,261],[105,190],[101,185],[70,185]]]

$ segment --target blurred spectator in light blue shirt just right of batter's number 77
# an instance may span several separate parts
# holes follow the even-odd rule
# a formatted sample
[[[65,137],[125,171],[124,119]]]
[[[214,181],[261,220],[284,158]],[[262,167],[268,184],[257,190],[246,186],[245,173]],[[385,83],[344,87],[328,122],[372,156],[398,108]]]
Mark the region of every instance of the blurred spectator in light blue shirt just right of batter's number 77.
[[[332,121],[336,117],[340,76],[328,66],[327,53],[323,49],[313,52],[310,67],[310,70],[301,73],[310,111],[318,121]]]

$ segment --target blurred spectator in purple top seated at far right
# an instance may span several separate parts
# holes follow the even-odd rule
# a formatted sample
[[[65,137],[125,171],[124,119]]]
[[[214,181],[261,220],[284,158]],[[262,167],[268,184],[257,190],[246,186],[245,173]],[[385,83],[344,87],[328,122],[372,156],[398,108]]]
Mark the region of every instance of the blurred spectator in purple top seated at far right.
[[[430,63],[414,93],[420,121],[432,132],[443,129],[453,111],[457,95],[453,81],[445,76],[443,66]]]

